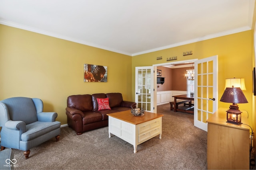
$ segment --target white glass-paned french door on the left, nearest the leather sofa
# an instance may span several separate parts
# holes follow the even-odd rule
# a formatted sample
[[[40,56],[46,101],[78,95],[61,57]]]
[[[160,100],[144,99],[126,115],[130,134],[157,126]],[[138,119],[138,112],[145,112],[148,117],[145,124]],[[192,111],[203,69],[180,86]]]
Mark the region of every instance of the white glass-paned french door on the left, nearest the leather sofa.
[[[135,93],[136,107],[154,112],[154,66],[135,68]]]

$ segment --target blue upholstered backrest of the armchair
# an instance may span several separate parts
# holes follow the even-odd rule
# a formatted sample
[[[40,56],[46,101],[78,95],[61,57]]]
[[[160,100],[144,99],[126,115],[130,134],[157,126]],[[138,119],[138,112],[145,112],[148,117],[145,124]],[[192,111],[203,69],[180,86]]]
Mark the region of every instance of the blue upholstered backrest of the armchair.
[[[1,102],[8,107],[12,121],[24,121],[26,125],[37,121],[36,106],[32,98],[14,97]]]

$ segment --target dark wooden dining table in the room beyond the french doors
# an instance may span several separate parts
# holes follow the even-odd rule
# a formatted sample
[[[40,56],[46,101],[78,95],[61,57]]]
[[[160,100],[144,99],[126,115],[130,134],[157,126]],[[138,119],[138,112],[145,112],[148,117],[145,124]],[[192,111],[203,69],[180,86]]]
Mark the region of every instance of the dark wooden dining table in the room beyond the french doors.
[[[172,96],[174,98],[174,112],[176,111],[183,111],[186,113],[194,113],[194,104],[192,104],[192,100],[194,101],[194,96],[191,96],[190,94],[182,94],[177,96]],[[182,107],[178,108],[178,102],[177,100],[189,100],[188,107]]]

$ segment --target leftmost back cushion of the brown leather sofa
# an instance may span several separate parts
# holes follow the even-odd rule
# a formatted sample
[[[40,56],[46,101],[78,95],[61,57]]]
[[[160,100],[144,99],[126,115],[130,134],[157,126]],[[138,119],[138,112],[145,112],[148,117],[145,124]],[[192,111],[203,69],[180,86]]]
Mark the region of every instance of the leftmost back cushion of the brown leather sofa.
[[[90,94],[68,96],[67,106],[75,107],[81,111],[92,111],[92,96]]]

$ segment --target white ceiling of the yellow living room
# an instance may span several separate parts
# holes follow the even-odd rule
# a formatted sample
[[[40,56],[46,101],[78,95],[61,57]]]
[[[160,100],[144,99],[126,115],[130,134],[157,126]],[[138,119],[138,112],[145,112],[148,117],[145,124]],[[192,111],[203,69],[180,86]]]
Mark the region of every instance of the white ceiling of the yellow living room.
[[[252,28],[255,0],[0,0],[0,23],[135,56]]]

